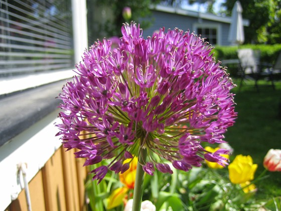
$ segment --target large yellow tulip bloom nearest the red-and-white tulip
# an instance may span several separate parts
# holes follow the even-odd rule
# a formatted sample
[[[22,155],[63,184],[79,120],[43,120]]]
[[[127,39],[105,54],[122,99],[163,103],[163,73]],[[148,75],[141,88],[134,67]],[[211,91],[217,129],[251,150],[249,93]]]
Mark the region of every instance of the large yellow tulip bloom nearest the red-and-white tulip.
[[[251,156],[237,155],[229,164],[229,179],[233,184],[241,184],[254,179],[257,164],[253,164]]]

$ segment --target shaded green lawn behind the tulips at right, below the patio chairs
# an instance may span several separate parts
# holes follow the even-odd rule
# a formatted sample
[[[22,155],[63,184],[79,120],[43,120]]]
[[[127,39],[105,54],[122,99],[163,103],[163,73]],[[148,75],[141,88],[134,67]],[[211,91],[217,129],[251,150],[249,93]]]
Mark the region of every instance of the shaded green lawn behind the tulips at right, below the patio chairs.
[[[239,80],[233,79],[236,84]],[[281,149],[281,81],[275,90],[267,81],[259,81],[259,91],[253,81],[233,89],[238,118],[225,134],[234,154],[250,155],[258,164],[255,176],[263,170],[263,158],[269,149]],[[232,159],[233,159],[232,157]],[[281,172],[267,172],[267,178],[257,183],[258,198],[281,196]]]

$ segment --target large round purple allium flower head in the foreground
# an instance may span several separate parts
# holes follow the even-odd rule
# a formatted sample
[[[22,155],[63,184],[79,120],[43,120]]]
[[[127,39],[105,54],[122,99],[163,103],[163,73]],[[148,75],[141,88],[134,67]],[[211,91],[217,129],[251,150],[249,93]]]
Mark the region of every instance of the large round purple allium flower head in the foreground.
[[[123,161],[141,148],[148,156],[140,163],[150,175],[155,168],[173,173],[167,160],[184,171],[204,158],[225,165],[220,154],[227,151],[212,154],[201,146],[224,143],[236,118],[234,84],[211,46],[179,29],[144,39],[131,23],[121,32],[117,48],[104,39],[85,51],[78,76],[59,95],[64,147],[79,149],[75,155],[86,158],[84,165],[111,159],[92,171],[99,181],[108,170],[126,171]]]

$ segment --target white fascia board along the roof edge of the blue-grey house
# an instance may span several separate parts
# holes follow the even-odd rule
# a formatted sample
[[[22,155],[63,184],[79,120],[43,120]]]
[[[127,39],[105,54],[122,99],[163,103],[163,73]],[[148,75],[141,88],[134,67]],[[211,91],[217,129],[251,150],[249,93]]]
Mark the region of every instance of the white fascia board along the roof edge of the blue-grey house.
[[[183,10],[181,8],[173,8],[173,7],[167,7],[163,5],[157,5],[155,7],[151,7],[152,10],[156,11],[161,11],[161,12],[166,12],[166,13],[175,13],[183,16],[190,16],[190,17],[195,17],[195,18],[202,18],[202,19],[207,19],[210,21],[218,21],[222,23],[231,23],[231,17],[221,17],[221,16],[216,16],[213,14],[208,14],[208,13],[198,13],[195,11],[189,11],[189,10]],[[243,19],[243,25],[244,26],[249,26],[249,20]]]

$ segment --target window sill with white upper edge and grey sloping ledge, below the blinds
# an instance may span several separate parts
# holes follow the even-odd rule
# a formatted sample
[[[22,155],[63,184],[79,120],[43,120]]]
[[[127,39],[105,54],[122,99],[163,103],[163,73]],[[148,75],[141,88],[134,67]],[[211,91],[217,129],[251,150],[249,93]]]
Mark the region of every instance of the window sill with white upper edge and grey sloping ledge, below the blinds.
[[[74,72],[71,71],[71,74],[74,75]],[[4,83],[9,84],[0,98],[0,147],[54,111],[60,103],[55,97],[66,83],[63,79],[71,76],[70,72],[62,71],[11,79],[9,83],[8,80],[0,81],[1,87],[5,87]],[[54,78],[56,82],[51,82]]]

